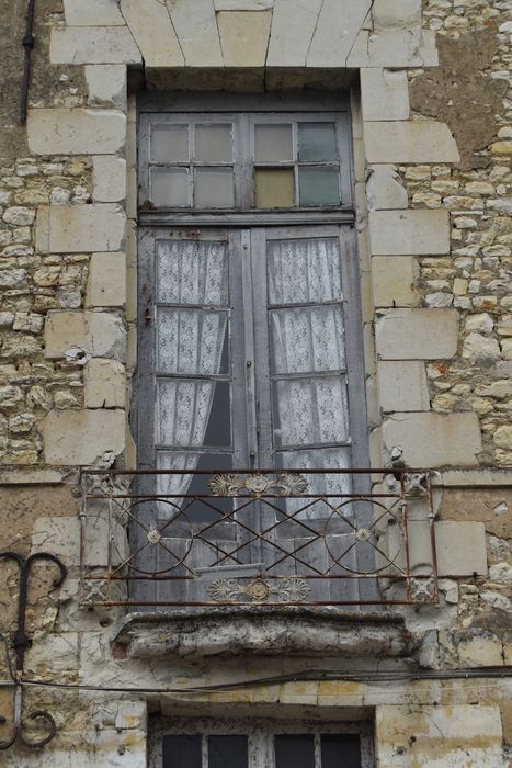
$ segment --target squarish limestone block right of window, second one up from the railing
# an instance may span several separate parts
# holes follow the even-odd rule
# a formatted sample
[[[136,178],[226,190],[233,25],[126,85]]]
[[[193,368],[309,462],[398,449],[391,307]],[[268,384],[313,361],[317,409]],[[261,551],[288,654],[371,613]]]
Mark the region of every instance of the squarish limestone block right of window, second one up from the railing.
[[[423,362],[379,360],[377,381],[383,410],[429,410],[429,387]]]

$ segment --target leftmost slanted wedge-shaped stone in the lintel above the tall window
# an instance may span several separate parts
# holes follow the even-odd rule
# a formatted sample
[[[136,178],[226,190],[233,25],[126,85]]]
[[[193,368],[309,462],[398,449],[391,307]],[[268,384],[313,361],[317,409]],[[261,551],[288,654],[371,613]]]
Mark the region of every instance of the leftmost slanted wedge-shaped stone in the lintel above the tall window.
[[[185,60],[164,3],[121,0],[121,10],[146,67],[183,67]]]

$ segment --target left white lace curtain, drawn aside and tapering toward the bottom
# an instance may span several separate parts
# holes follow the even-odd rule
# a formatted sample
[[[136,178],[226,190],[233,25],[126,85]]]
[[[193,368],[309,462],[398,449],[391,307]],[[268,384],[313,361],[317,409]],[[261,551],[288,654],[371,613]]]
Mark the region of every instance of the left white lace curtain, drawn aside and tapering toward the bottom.
[[[228,303],[227,253],[218,242],[162,241],[157,249],[157,295],[160,303],[226,306]],[[159,373],[212,375],[220,372],[227,335],[227,312],[185,307],[160,307],[157,319],[157,370]],[[159,379],[157,389],[157,440],[183,448],[204,444],[215,381]],[[159,470],[195,470],[200,454],[159,451]],[[191,475],[161,475],[158,493],[186,493]],[[180,498],[171,499],[177,506]],[[160,505],[169,516],[168,505]]]

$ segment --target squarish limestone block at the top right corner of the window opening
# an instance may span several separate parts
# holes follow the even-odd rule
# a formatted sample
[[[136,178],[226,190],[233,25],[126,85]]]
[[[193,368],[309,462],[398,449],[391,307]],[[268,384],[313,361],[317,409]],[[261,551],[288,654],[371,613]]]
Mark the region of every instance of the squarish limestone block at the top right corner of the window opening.
[[[409,87],[406,71],[363,68],[360,77],[363,120],[409,118]]]

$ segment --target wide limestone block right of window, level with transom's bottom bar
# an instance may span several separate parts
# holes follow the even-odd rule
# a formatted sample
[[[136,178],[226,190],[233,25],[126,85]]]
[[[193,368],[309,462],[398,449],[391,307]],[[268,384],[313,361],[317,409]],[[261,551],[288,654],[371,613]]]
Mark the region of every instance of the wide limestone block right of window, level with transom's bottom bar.
[[[372,211],[369,238],[374,256],[450,253],[447,211]]]

